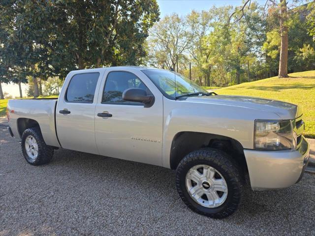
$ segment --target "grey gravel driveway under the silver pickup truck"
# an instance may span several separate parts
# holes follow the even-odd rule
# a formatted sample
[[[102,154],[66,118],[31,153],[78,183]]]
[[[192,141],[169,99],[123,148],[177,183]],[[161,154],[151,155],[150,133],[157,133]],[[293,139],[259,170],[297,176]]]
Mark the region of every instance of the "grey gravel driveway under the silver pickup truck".
[[[0,127],[0,235],[315,235],[315,175],[277,191],[245,191],[223,220],[179,199],[174,171],[70,150],[24,160]]]

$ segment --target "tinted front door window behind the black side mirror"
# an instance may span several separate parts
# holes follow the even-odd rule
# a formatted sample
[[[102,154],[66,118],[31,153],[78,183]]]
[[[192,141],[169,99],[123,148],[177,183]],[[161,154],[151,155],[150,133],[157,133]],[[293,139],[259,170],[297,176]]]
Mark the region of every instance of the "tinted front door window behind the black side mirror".
[[[106,79],[102,102],[143,105],[140,102],[129,102],[123,99],[123,92],[130,88],[144,89],[147,93],[149,92],[145,84],[134,74],[124,71],[110,72]]]

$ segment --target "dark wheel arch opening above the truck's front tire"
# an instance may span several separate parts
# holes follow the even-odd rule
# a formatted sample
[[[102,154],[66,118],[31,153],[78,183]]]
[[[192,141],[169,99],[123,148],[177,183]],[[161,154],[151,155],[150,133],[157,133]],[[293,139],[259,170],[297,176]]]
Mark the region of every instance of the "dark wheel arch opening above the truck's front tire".
[[[191,131],[182,131],[174,136],[170,151],[170,168],[176,169],[189,152],[200,148],[220,149],[236,159],[240,167],[247,171],[244,148],[237,140],[217,134]]]

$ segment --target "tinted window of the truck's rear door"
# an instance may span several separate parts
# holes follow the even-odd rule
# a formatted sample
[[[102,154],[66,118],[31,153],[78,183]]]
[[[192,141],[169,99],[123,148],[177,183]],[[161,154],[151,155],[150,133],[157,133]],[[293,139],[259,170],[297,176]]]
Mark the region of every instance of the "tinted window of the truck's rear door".
[[[93,103],[99,73],[77,74],[71,78],[66,93],[68,102]]]

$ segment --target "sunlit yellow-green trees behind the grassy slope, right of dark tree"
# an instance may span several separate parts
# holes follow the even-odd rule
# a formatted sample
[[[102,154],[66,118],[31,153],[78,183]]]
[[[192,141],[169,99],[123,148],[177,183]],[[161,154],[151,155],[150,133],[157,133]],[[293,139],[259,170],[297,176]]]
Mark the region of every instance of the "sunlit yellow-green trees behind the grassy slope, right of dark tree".
[[[314,6],[311,2],[288,7],[284,25],[288,31],[289,73],[315,68]],[[175,70],[179,67],[189,77],[190,62],[192,79],[204,86],[227,86],[278,75],[279,5],[267,8],[252,2],[241,8],[213,7],[184,17],[166,16],[150,31],[147,63]]]

